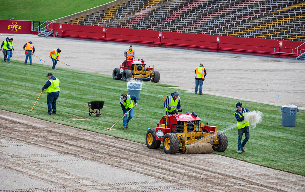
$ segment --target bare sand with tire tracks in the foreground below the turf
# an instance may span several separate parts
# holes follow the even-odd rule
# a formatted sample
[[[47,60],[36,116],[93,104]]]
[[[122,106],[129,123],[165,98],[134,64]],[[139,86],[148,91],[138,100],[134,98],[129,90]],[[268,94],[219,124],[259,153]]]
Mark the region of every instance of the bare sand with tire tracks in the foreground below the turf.
[[[304,176],[217,154],[168,155],[4,110],[0,178],[1,192],[305,191]]]

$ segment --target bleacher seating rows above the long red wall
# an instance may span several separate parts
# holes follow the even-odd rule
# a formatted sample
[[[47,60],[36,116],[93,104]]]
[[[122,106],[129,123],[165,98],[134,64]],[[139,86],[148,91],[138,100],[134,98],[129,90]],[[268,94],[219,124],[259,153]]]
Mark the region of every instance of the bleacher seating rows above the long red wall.
[[[66,23],[304,41],[305,1],[135,0]]]

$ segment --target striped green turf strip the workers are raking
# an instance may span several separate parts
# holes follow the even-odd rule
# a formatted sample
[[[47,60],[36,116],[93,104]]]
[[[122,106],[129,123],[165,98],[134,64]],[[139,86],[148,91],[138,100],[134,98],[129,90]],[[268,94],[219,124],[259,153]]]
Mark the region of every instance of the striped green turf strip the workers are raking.
[[[74,126],[115,137],[145,144],[148,127],[156,127],[164,114],[163,97],[177,90],[165,84],[145,82],[142,86],[138,105],[134,108],[134,117],[128,124],[127,131],[122,130],[122,121],[107,130],[122,116],[119,103],[121,93],[128,93],[127,83],[113,80],[112,76],[88,73],[51,66],[11,60],[0,63],[0,108],[39,119]],[[29,112],[45,84],[46,74],[52,72],[60,80],[60,95],[57,100],[56,115],[46,115],[46,93],[43,92],[33,111]],[[240,101],[213,95],[195,95],[178,90],[183,112],[195,111],[209,125],[218,125],[218,130],[227,130],[228,148],[225,152],[214,152],[275,169],[305,175],[305,112],[297,113],[296,127],[282,126],[281,107],[250,101]],[[71,118],[89,118],[87,101],[105,101],[101,116],[92,115],[91,120],[72,120]],[[256,128],[250,127],[250,139],[245,146],[245,153],[237,154],[237,128],[234,127],[235,104],[242,102],[243,107],[264,113],[264,118]]]

